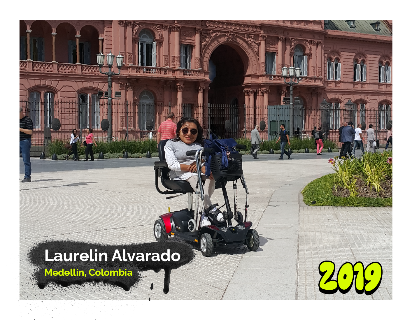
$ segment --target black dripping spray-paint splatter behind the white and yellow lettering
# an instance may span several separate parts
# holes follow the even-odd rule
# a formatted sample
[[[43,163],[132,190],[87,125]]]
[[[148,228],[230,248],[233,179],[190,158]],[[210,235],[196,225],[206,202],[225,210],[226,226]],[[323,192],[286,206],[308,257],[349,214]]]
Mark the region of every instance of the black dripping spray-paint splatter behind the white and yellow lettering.
[[[97,249],[97,260],[99,260],[99,253],[106,252],[107,260],[104,261],[105,257],[102,256],[103,261],[81,261],[80,255],[77,255],[77,261],[45,261],[45,250],[48,250],[48,258],[52,259],[55,257],[56,252],[60,252],[62,255],[66,252],[66,258],[69,259],[70,252],[72,252],[72,257],[74,256],[73,252],[82,252],[90,254],[92,250],[93,256],[95,254],[95,249]],[[112,257],[115,254],[115,250],[119,250],[120,256],[123,260],[123,250],[126,250],[126,260],[119,261],[115,259],[112,261]],[[136,256],[133,257],[134,252],[141,252],[145,256],[146,252],[157,252],[159,255],[162,253],[167,253],[167,250],[170,250],[170,257],[174,252],[177,252],[180,255],[179,261],[173,261],[170,258],[170,261],[152,261],[151,255],[148,256],[149,261],[136,261]],[[129,253],[130,256],[127,254]],[[175,259],[177,256],[174,256]],[[170,275],[172,269],[177,269],[184,264],[187,264],[193,260],[193,251],[190,247],[183,243],[173,243],[173,242],[152,242],[152,243],[141,243],[141,244],[129,244],[129,245],[102,245],[95,243],[86,243],[79,241],[47,241],[38,243],[33,246],[28,252],[29,261],[40,269],[34,273],[34,277],[37,285],[40,289],[43,289],[47,283],[57,283],[63,287],[68,287],[73,284],[82,284],[86,282],[97,282],[97,283],[109,283],[111,285],[117,285],[122,287],[124,290],[129,291],[130,288],[138,283],[140,280],[140,273],[142,271],[153,270],[159,272],[164,269],[164,287],[163,292],[166,294],[169,292],[170,284]],[[94,257],[93,257],[94,258]],[[130,261],[132,259],[132,261]],[[166,255],[164,256],[166,259]],[[52,269],[53,271],[60,271],[60,275],[46,275],[45,269]],[[95,271],[90,271],[94,269]],[[62,271],[63,270],[63,271]],[[70,276],[65,271],[71,272],[71,274],[77,274],[78,271],[84,271],[82,276]],[[91,276],[90,273],[96,274],[96,271],[117,271],[117,274],[122,272],[131,271],[130,276],[125,273],[124,276],[116,275],[115,272],[112,272],[108,276]],[[66,273],[66,275],[65,275]],[[130,274],[130,273],[129,273]],[[153,286],[153,285],[152,285]],[[152,289],[151,286],[151,289]]]

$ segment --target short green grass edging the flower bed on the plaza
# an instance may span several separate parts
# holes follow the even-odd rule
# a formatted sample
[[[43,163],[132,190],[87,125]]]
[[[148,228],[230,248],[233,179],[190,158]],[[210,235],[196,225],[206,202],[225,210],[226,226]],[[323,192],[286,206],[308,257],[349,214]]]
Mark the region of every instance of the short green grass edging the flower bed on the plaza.
[[[332,194],[334,175],[324,175],[315,179],[304,187],[303,201],[308,206],[334,206],[334,207],[386,207],[392,206],[392,198],[365,198],[358,196],[337,197]],[[316,201],[316,204],[312,204]]]

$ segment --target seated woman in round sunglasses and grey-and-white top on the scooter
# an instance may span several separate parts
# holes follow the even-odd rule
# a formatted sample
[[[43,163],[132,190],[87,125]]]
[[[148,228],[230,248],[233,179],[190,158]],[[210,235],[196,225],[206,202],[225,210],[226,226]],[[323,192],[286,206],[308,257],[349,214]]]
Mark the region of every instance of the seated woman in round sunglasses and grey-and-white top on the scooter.
[[[204,146],[203,129],[194,118],[182,118],[176,125],[176,138],[170,139],[164,146],[164,155],[167,165],[171,170],[169,177],[173,180],[185,180],[190,183],[192,189],[196,191],[198,182],[197,166],[194,156],[187,156],[186,151],[197,150]],[[204,211],[201,217],[200,226],[210,225],[211,222],[206,217],[206,213],[214,215],[215,219],[223,222],[223,214],[210,200],[215,191],[215,180],[212,174],[206,178],[205,162],[201,167],[201,177],[204,184]]]

